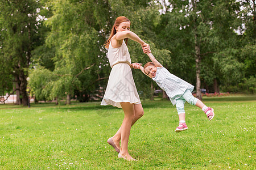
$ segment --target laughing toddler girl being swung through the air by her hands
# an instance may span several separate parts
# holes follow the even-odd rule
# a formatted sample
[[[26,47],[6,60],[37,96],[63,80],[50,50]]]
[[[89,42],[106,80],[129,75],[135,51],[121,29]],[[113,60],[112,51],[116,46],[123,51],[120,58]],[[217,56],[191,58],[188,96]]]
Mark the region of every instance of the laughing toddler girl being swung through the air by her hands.
[[[173,105],[176,105],[177,112],[179,115],[179,126],[176,128],[176,132],[187,130],[188,126],[185,123],[185,110],[184,104],[188,101],[189,104],[196,105],[201,108],[209,120],[214,117],[214,112],[212,108],[207,107],[204,103],[193,97],[192,91],[194,86],[185,82],[183,79],[171,74],[166,68],[164,68],[155,57],[149,53],[147,54],[152,62],[146,63],[144,67],[139,63],[134,63],[134,69],[141,69],[141,71],[152,78],[162,90],[166,91],[168,97]]]

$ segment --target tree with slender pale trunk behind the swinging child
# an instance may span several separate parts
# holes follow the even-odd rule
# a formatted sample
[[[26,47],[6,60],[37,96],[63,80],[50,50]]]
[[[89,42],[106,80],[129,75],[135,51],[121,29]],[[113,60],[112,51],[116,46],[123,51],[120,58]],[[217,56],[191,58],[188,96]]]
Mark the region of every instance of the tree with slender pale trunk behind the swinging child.
[[[243,65],[238,61],[236,47],[239,38],[230,29],[241,24],[236,18],[239,5],[235,1],[169,1],[164,5],[169,10],[159,24],[164,28],[159,33],[164,43],[159,44],[172,52],[176,71],[190,72],[181,77],[189,80],[191,73],[196,73],[197,98],[201,99],[201,80],[218,91],[218,79],[227,78],[224,75],[229,71],[237,68],[236,78],[241,79]]]

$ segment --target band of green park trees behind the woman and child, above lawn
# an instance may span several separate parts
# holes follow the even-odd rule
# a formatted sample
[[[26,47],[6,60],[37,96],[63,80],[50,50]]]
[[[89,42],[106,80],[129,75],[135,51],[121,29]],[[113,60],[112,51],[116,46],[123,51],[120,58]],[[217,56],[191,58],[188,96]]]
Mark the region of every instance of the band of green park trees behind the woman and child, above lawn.
[[[117,16],[171,73],[209,93],[255,94],[255,1],[1,1],[0,94],[16,104],[100,100]],[[132,62],[150,61],[129,41]],[[142,99],[159,89],[133,71]],[[163,95],[163,97],[166,97]],[[5,98],[6,100],[6,98]],[[3,99],[1,102],[3,103]]]

